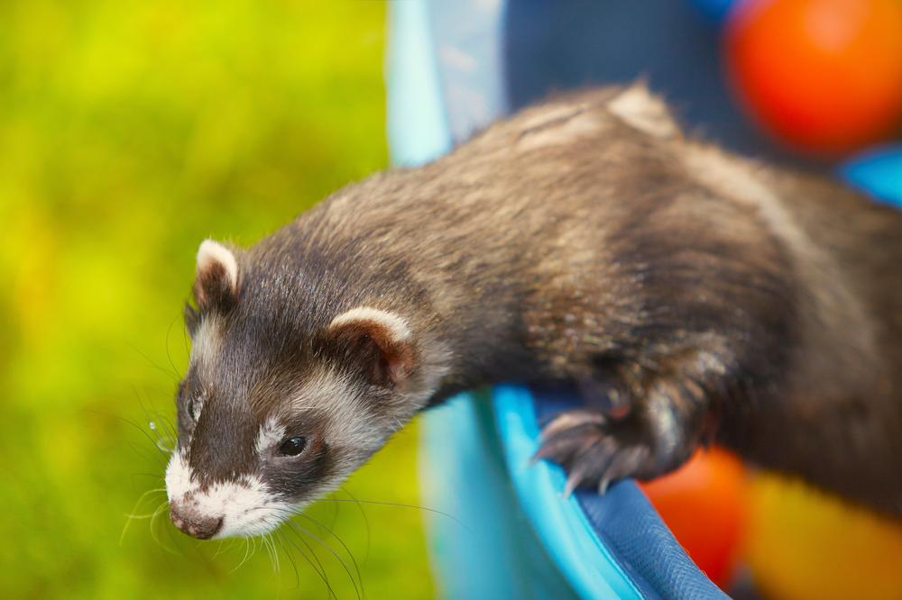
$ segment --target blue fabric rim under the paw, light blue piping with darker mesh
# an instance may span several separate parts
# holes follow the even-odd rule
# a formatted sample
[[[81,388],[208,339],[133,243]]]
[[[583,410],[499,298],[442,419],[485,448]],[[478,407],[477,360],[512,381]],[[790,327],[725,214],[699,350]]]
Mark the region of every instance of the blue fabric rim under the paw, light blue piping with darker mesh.
[[[520,503],[579,595],[727,597],[686,555],[633,481],[622,481],[603,496],[584,491],[563,497],[564,470],[531,459],[539,445],[541,396],[524,386],[498,386],[492,400]]]

